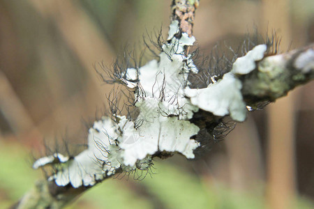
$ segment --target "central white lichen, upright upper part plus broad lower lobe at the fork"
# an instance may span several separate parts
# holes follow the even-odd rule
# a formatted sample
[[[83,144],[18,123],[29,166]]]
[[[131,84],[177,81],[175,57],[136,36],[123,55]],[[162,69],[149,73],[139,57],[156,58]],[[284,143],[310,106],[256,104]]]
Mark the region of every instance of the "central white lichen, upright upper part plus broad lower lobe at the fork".
[[[160,61],[150,61],[138,70],[128,68],[127,86],[140,86],[140,93],[135,93],[135,106],[140,110],[137,121],[142,121],[135,128],[133,121],[120,117],[118,146],[123,150],[126,166],[134,166],[137,160],[154,155],[158,151],[179,152],[193,158],[193,150],[198,146],[190,137],[197,134],[199,127],[190,123],[193,112],[198,108],[190,104],[184,95],[188,84],[188,73],[197,72],[190,55],[184,55],[184,46],[193,45],[194,37],[183,33],[180,39],[174,38],[179,22],[170,25],[168,40],[159,54]],[[134,72],[137,72],[134,75]],[[133,82],[135,80],[136,82]],[[144,95],[144,96],[142,96]],[[171,117],[172,116],[172,117]]]

